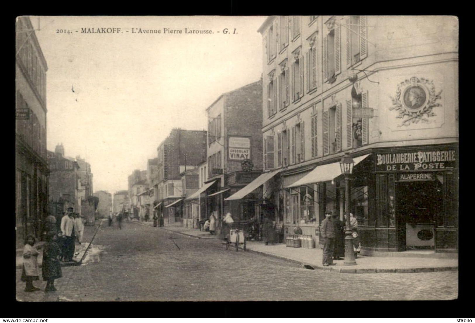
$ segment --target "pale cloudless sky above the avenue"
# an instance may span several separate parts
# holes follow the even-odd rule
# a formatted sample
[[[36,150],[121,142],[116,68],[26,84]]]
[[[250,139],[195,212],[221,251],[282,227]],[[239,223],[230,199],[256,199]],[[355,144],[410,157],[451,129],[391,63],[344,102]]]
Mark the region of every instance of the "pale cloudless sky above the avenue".
[[[220,94],[262,74],[263,16],[30,19],[48,66],[47,149],[86,158],[94,191],[127,189],[172,128],[206,129]],[[113,32],[87,33],[98,28]]]

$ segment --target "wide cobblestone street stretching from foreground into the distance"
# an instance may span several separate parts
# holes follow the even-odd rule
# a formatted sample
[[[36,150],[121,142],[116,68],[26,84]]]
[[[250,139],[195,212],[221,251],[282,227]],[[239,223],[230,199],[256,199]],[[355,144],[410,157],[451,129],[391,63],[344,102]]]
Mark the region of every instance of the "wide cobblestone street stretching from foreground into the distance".
[[[94,230],[85,232],[90,240]],[[343,274],[309,270],[218,239],[188,238],[137,222],[103,222],[83,264],[63,267],[57,292],[23,291],[19,301],[449,300],[458,272]],[[44,289],[46,282],[35,286]],[[348,289],[348,286],[352,286]]]

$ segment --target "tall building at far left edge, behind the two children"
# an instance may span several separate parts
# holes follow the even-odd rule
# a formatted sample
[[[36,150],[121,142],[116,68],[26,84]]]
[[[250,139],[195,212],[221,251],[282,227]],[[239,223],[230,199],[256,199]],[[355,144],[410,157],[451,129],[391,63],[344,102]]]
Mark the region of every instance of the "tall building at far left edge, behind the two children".
[[[15,226],[19,242],[39,237],[48,208],[47,64],[28,17],[16,23]]]

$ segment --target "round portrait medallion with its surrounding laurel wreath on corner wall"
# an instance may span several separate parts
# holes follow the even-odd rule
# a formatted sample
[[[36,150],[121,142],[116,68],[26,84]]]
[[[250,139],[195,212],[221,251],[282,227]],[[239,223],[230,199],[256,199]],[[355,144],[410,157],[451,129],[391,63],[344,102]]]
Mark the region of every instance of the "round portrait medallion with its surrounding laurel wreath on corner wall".
[[[403,121],[398,127],[409,126],[412,123],[429,123],[430,118],[437,116],[432,111],[442,104],[437,100],[441,99],[440,90],[436,94],[434,81],[426,78],[411,77],[409,80],[399,83],[395,97],[390,97],[393,106],[389,110],[398,112],[396,118]]]

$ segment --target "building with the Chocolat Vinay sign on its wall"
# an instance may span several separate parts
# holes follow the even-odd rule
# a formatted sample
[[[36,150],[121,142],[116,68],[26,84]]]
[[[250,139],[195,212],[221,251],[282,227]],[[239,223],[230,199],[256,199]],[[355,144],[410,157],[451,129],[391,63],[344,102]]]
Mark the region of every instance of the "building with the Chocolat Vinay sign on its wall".
[[[255,215],[257,200],[224,203],[262,173],[262,81],[221,94],[207,109],[208,179],[206,215],[236,220]],[[258,212],[258,211],[257,211]]]

